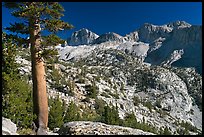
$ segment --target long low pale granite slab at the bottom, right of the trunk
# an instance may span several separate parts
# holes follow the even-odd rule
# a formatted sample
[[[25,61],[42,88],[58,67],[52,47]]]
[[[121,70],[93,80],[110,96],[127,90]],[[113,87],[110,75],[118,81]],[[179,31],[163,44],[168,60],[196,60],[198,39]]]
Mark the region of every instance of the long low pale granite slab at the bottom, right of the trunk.
[[[64,124],[60,135],[154,135],[139,129],[107,125],[100,122],[75,121]]]

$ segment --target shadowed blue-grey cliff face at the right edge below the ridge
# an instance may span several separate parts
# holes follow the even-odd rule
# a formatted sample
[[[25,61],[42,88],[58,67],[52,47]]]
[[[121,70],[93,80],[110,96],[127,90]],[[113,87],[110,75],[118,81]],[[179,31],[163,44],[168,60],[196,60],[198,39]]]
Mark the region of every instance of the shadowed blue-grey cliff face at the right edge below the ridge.
[[[154,51],[147,54],[145,62],[159,65],[162,62],[171,62],[172,66],[195,67],[197,72],[202,72],[202,38],[201,26],[181,27],[172,31],[171,35]],[[182,50],[182,55],[172,58],[176,50]],[[177,54],[179,55],[179,54]],[[177,58],[177,59],[176,59]]]

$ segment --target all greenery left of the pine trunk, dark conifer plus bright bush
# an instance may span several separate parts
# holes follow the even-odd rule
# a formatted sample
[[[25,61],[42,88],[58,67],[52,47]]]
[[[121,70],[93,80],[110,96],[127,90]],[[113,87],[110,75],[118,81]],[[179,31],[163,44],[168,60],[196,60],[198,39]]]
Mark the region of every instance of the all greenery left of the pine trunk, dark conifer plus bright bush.
[[[11,119],[19,129],[31,128],[35,118],[31,85],[18,73],[17,45],[8,37],[2,33],[2,116]]]

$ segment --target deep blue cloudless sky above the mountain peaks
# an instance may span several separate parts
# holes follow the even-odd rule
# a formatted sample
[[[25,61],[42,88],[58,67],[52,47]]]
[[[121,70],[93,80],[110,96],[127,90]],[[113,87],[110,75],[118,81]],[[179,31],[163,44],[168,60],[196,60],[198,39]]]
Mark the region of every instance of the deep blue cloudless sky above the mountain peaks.
[[[75,26],[60,32],[66,39],[71,33],[87,28],[97,34],[116,32],[122,36],[144,23],[163,25],[183,20],[193,25],[202,24],[201,2],[60,2],[65,9],[62,20]],[[2,8],[2,26],[15,22],[7,9]]]

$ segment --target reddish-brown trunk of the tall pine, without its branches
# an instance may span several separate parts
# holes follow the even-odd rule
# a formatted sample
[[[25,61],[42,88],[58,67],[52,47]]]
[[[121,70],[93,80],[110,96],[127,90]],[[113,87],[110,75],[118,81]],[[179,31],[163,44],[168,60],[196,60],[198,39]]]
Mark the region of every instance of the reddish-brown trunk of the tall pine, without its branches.
[[[33,25],[33,26],[32,26]],[[33,29],[32,29],[33,28]],[[30,26],[32,80],[33,80],[33,108],[37,118],[34,120],[38,128],[37,134],[45,134],[48,124],[48,101],[46,92],[46,77],[41,51],[40,24],[31,23]],[[41,133],[40,133],[41,132]]]

